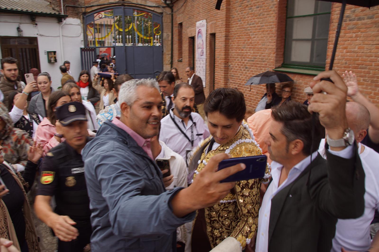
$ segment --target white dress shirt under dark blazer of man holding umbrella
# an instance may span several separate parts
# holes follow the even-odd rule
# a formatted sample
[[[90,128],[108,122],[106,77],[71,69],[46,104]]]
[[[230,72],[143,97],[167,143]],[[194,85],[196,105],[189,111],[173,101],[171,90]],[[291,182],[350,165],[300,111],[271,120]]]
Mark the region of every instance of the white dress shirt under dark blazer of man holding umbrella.
[[[340,156],[343,158],[351,158],[353,155],[353,146],[348,146],[342,151],[332,151],[330,153]],[[312,161],[316,158],[317,151],[312,153]],[[273,181],[268,186],[265,196],[263,196],[262,206],[259,210],[258,217],[258,231],[257,231],[257,243],[255,245],[255,252],[267,252],[268,251],[268,228],[271,212],[271,199],[275,197],[279,191],[285,188],[287,185],[290,185],[297,177],[307,168],[311,162],[311,156],[306,157],[301,160],[298,164],[293,166],[293,168],[288,173],[288,177],[284,182],[279,186],[280,174],[282,172],[283,165],[273,161],[271,163],[271,176]]]

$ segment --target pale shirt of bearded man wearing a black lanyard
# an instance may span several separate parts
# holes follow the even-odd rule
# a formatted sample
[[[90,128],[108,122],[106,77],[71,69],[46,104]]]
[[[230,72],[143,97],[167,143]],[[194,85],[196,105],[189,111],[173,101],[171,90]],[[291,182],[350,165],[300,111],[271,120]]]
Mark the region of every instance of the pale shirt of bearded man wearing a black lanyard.
[[[174,115],[173,110],[174,109],[171,109],[169,115],[166,115],[166,117],[161,120],[159,140],[163,141],[170,149],[178,153],[184,160],[186,160],[186,149],[196,148],[201,141],[209,137],[208,127],[205,125],[201,115],[194,112],[191,113],[191,117],[195,124],[191,120],[188,120],[187,125],[185,125],[182,119]],[[191,128],[193,129],[193,145],[191,145],[191,142],[189,142],[177,126],[175,126],[175,123],[171,118],[175,120],[177,125],[189,139],[191,139]]]

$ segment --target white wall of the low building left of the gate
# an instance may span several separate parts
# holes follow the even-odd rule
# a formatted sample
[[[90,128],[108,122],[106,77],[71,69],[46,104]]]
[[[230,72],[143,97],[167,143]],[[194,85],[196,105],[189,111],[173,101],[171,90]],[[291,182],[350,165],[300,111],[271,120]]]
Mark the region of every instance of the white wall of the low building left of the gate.
[[[62,26],[63,56],[60,46],[58,23],[55,17],[36,17],[35,24],[28,15],[0,14],[0,36],[17,36],[17,26],[25,37],[37,37],[39,62],[41,72],[48,72],[52,76],[52,86],[56,89],[61,86],[61,72],[59,66],[63,61],[70,61],[70,71],[75,80],[81,71],[80,47],[83,47],[83,28],[80,19],[67,18]],[[0,45],[1,46],[1,45]],[[48,63],[45,51],[56,51],[57,62]],[[2,58],[0,51],[0,58]]]

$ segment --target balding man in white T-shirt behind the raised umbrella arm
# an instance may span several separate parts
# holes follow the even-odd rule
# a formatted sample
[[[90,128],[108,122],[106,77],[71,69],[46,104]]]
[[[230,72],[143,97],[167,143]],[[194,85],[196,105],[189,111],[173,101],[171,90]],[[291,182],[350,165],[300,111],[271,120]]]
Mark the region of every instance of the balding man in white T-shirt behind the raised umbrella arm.
[[[348,126],[354,132],[358,143],[358,153],[365,171],[365,212],[357,219],[338,219],[332,252],[367,251],[371,249],[370,223],[375,210],[379,210],[379,153],[360,143],[367,134],[370,125],[370,113],[362,104],[346,103],[346,119]],[[325,153],[325,140],[321,140],[320,154]],[[324,158],[326,158],[324,156]]]

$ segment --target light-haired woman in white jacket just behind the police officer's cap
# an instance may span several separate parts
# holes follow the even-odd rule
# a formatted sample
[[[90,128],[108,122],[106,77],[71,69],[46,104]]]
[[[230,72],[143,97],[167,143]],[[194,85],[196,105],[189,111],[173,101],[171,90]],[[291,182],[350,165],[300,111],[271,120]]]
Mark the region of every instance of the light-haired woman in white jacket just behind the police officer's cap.
[[[80,87],[74,82],[66,82],[63,91],[66,91],[71,96],[72,101],[80,102],[86,108],[87,127],[89,130],[97,130],[99,125],[96,123],[96,112],[94,106],[89,101],[81,99]]]

